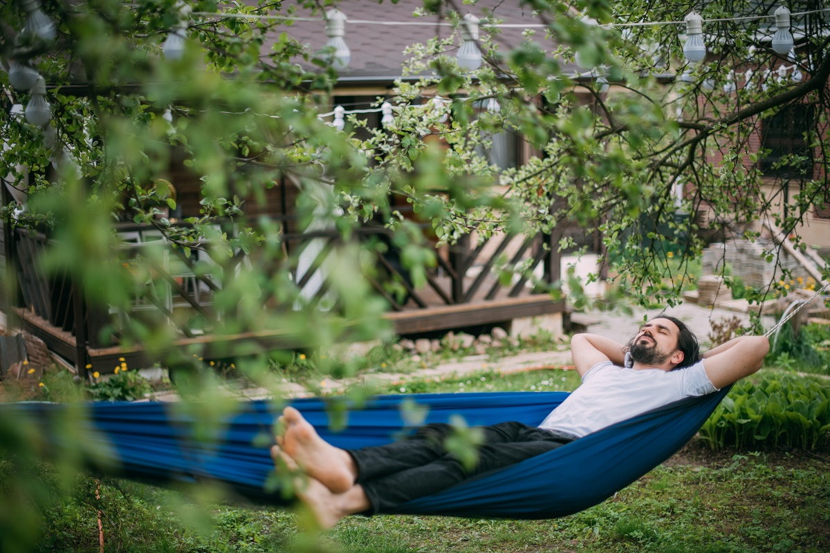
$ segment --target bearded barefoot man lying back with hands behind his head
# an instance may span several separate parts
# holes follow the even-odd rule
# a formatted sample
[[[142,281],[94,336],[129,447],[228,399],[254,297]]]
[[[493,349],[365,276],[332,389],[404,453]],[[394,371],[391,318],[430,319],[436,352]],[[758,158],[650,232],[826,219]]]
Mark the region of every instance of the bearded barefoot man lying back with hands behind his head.
[[[331,527],[348,515],[386,511],[684,397],[719,390],[758,371],[768,351],[766,337],[744,336],[701,355],[686,324],[667,316],[643,324],[625,347],[577,334],[571,353],[582,386],[538,427],[480,427],[484,440],[471,470],[443,447],[450,424],[427,424],[403,441],[347,451],[325,442],[292,407],[283,412],[285,434],[277,436],[271,455],[305,473],[308,482],[297,495],[321,526]]]

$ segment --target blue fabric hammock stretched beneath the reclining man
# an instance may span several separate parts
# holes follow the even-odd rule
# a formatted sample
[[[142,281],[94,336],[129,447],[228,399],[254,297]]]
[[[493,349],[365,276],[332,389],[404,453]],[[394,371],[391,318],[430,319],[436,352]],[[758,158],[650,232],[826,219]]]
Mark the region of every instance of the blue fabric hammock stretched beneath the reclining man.
[[[554,518],[603,502],[669,458],[694,436],[728,389],[687,398],[578,439],[549,453],[494,473],[471,478],[453,488],[405,503],[398,514],[453,517]],[[462,415],[467,424],[496,424],[518,420],[539,424],[559,405],[566,392],[496,392],[378,396],[361,410],[351,411],[343,432],[328,429],[325,400],[295,400],[292,405],[314,424],[320,435],[345,449],[387,444],[408,428],[402,402],[415,400],[429,408],[426,423],[447,422]],[[65,405],[30,403],[7,405],[20,415],[35,415],[42,424],[60,417]],[[128,478],[196,483],[226,483],[256,502],[283,503],[280,492],[264,490],[273,470],[267,447],[253,443],[270,434],[272,404],[239,404],[218,440],[195,439],[193,420],[173,404],[96,403],[88,411],[87,427],[115,452],[120,474]],[[7,414],[8,410],[4,409]],[[49,441],[59,436],[43,432]],[[54,443],[54,441],[53,441]],[[66,444],[64,444],[66,446]]]

